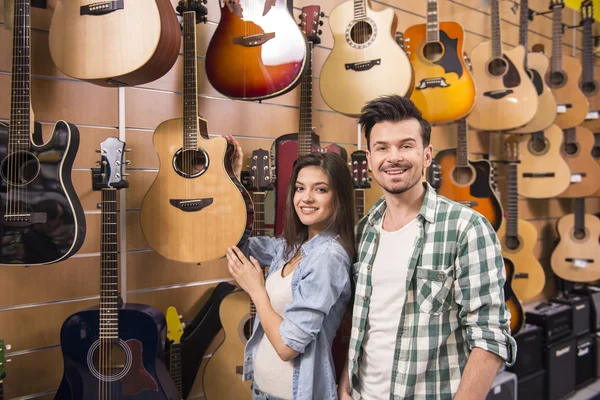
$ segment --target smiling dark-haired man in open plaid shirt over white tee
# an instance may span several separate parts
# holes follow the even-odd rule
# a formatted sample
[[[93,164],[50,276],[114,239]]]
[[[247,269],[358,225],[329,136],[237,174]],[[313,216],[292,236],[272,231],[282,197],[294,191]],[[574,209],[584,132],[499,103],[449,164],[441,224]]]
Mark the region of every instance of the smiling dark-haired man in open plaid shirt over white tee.
[[[359,123],[384,196],[357,225],[348,373],[340,400],[484,399],[512,364],[500,244],[477,212],[435,193],[431,126],[407,98]]]

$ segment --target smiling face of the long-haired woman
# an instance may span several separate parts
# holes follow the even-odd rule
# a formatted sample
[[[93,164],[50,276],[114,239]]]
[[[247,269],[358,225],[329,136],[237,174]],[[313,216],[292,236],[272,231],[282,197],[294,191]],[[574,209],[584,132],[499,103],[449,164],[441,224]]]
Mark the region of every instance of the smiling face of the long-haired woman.
[[[298,173],[294,191],[294,208],[300,221],[313,234],[323,230],[333,216],[333,189],[319,167],[304,167]]]

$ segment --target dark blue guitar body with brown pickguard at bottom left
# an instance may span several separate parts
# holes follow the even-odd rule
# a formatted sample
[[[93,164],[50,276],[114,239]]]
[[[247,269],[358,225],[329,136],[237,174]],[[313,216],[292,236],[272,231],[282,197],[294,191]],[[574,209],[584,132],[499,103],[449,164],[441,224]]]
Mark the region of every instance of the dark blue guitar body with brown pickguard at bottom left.
[[[115,368],[109,374],[107,370],[99,373],[94,353],[100,340],[100,311],[91,309],[71,315],[60,332],[64,375],[54,399],[177,399],[164,362],[164,335],[165,317],[160,311],[141,304],[125,305],[119,310],[121,346],[117,348],[124,352],[120,371]],[[119,364],[117,354],[113,353],[115,364]],[[106,375],[119,379],[112,383],[100,381],[99,376]]]

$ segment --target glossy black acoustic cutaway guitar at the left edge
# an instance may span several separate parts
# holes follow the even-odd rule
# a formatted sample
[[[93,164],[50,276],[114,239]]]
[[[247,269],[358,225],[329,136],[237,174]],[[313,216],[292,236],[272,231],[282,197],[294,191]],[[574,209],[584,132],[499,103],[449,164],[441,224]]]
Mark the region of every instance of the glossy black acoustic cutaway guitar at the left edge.
[[[15,0],[10,126],[0,124],[0,265],[65,260],[86,232],[71,181],[79,130],[58,121],[44,143],[41,125],[33,124],[30,7],[29,0]]]

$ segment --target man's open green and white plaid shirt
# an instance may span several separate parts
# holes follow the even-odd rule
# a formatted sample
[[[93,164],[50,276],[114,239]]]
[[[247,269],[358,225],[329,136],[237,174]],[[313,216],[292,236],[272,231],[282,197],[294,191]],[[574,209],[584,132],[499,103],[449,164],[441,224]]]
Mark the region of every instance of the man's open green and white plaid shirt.
[[[504,302],[504,263],[493,228],[477,212],[424,185],[417,217],[421,234],[408,266],[390,365],[390,399],[452,399],[473,347],[497,354],[509,365],[516,357]],[[382,198],[356,227],[358,262],[352,267],[356,295],[349,349],[355,399],[360,399],[359,364],[373,290],[377,224],[385,208]]]

